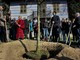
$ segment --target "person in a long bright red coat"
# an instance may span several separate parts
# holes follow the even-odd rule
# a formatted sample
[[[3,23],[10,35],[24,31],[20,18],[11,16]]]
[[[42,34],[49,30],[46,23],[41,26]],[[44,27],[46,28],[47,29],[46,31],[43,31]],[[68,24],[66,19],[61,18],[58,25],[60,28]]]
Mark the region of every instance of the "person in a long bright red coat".
[[[24,20],[22,20],[21,16],[18,17],[16,24],[17,24],[16,39],[23,39],[25,23],[24,23]]]

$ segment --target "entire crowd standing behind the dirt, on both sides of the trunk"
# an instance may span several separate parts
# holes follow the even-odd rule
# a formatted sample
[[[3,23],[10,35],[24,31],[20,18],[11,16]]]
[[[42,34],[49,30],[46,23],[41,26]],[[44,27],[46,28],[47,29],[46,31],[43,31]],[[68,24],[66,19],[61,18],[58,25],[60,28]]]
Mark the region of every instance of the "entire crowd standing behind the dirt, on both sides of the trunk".
[[[4,17],[5,18],[5,17]],[[6,29],[5,19],[0,19],[0,41],[6,41]],[[73,40],[76,38],[80,43],[80,13],[75,14],[75,20],[70,21],[68,18],[62,18],[53,13],[53,17],[48,20],[44,18],[43,22],[40,22],[41,40],[45,41],[59,41],[60,38],[64,42],[70,42],[70,34],[73,35]],[[61,35],[61,36],[60,36]],[[10,21],[9,26],[9,38],[11,40],[17,39],[36,39],[38,37],[38,21],[37,17],[33,20],[27,20],[26,18],[18,17]]]

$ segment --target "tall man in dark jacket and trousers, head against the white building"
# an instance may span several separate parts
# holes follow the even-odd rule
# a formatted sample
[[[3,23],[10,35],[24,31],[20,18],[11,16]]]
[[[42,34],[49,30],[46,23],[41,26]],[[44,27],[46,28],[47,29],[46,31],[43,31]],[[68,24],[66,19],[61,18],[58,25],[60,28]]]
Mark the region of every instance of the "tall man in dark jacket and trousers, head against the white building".
[[[54,12],[53,17],[51,19],[51,26],[52,26],[52,24],[54,24],[53,30],[52,30],[53,41],[58,41],[59,34],[60,34],[60,18],[56,14],[56,12]]]

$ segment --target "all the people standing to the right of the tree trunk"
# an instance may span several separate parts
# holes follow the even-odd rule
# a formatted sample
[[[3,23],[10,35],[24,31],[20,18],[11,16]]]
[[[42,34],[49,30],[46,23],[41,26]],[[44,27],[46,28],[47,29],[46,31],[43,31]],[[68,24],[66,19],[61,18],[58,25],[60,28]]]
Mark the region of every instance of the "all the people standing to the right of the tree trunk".
[[[70,35],[73,36],[73,41],[80,43],[80,13],[75,14],[74,20],[62,18],[54,12],[50,21],[45,19],[43,24],[44,40],[57,42],[62,38],[63,42],[70,43]]]

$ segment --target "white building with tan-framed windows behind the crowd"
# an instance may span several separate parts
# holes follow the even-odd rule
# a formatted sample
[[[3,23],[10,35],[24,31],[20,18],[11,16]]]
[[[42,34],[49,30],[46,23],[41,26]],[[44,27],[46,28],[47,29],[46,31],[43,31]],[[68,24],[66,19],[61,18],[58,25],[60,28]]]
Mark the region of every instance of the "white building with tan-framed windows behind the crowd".
[[[27,19],[32,19],[37,17],[36,1],[37,0],[11,0],[9,2],[11,18],[18,19],[18,16],[22,16]],[[60,19],[68,18],[67,0],[44,0],[41,4],[41,18],[51,18],[53,11],[57,11]]]

